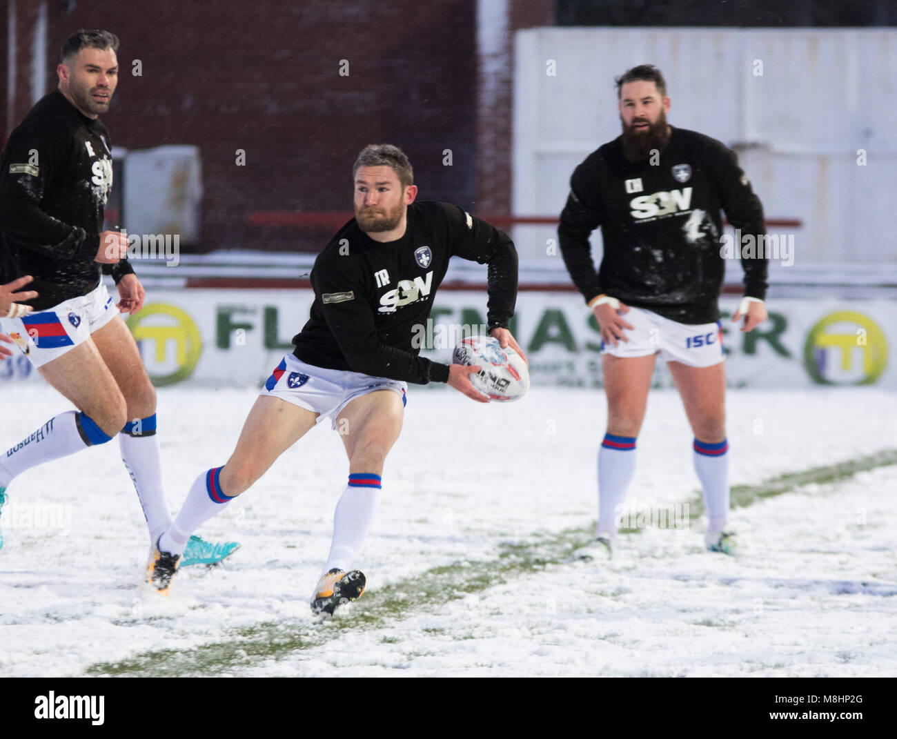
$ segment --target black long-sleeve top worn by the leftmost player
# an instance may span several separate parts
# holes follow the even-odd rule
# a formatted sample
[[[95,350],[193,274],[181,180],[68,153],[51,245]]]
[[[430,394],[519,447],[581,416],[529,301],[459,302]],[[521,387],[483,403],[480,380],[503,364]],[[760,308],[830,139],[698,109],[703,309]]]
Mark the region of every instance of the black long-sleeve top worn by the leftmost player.
[[[13,130],[0,159],[0,277],[32,274],[36,310],[86,295],[100,274],[134,269],[94,261],[112,189],[112,144],[60,91],[41,98]]]

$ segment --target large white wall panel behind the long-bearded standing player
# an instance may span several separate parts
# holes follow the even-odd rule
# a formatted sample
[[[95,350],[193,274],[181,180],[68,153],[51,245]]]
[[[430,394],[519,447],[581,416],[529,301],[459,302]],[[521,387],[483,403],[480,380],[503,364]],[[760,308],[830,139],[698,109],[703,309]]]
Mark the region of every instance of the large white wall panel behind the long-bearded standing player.
[[[645,63],[666,78],[670,122],[735,147],[767,218],[804,223],[798,264],[897,264],[895,30],[518,31],[516,215],[560,213],[575,166],[620,134],[614,76]]]

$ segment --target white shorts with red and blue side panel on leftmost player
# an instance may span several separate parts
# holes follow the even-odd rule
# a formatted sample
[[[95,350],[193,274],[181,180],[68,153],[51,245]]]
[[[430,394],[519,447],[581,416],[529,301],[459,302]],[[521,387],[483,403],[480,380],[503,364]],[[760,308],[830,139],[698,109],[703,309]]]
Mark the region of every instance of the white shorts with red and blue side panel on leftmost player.
[[[41,367],[71,352],[79,343],[118,316],[106,285],[58,305],[21,318],[0,318],[0,331],[9,335],[31,364]]]

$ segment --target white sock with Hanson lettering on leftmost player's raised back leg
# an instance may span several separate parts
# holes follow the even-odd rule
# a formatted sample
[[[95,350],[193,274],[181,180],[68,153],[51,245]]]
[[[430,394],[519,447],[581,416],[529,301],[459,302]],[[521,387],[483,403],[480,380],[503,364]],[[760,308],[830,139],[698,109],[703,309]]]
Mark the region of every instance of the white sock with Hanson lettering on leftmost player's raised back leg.
[[[87,413],[59,413],[6,451],[0,462],[0,486],[7,487],[13,477],[31,467],[105,444],[111,438]]]

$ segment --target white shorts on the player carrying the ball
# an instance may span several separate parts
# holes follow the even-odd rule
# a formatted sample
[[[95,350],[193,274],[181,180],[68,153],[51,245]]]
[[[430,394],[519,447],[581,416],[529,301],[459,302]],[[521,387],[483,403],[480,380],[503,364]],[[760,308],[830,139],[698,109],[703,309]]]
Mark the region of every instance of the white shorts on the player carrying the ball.
[[[401,380],[372,378],[361,372],[326,370],[306,364],[293,354],[285,354],[267,379],[261,395],[279,397],[287,403],[318,413],[315,423],[330,416],[330,425],[335,429],[340,412],[356,397],[377,390],[392,390],[402,398],[402,405],[405,406],[407,389],[407,383]]]

